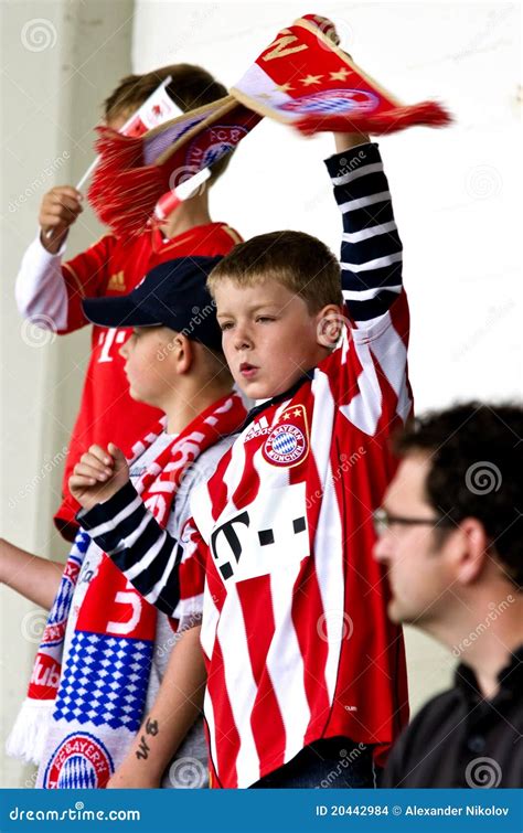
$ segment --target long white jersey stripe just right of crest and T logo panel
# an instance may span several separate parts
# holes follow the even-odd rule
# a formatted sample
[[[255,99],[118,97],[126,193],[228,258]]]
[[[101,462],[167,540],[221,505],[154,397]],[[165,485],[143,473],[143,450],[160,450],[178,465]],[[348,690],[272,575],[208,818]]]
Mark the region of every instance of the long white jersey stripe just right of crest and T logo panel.
[[[345,626],[343,531],[330,462],[335,406],[327,374],[317,371],[312,391],[316,418],[311,428],[311,448],[317,463],[323,461],[325,463],[325,470],[320,472],[324,491],[314,538],[314,566],[324,617],[318,622],[318,632],[322,639],[327,639],[329,647],[324,674],[331,703],[338,677],[340,644],[343,638],[340,633],[343,633]],[[340,472],[335,474],[339,477]]]

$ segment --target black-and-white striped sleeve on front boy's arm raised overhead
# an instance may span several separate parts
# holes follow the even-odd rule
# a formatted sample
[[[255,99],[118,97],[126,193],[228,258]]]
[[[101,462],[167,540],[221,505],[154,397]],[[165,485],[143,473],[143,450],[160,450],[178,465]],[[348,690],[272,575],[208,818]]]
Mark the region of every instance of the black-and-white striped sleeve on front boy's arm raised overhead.
[[[367,322],[402,291],[402,242],[387,178],[376,143],[337,153],[325,164],[343,218],[343,298],[351,319]]]

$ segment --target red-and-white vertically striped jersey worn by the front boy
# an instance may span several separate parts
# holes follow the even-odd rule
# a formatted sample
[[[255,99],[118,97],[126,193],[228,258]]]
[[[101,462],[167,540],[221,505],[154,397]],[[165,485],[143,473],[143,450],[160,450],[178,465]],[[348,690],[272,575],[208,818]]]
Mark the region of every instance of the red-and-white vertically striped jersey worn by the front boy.
[[[248,787],[337,735],[380,761],[408,717],[402,632],[372,557],[387,441],[412,413],[405,295],[370,324],[263,408],[192,500],[180,604],[205,583],[216,786]]]

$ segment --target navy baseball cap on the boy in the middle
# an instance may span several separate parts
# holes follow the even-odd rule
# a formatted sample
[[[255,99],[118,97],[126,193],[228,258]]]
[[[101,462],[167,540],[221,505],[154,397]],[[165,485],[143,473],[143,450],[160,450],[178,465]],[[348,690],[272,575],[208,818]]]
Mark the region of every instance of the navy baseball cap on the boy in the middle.
[[[100,327],[170,327],[212,350],[222,350],[216,305],[205,286],[222,257],[180,257],[147,273],[120,298],[85,298],[89,321]]]

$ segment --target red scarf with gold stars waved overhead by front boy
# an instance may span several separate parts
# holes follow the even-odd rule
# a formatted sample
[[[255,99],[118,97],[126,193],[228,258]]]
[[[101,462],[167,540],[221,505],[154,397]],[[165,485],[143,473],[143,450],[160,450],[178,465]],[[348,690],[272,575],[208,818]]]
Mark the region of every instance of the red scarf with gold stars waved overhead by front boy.
[[[233,150],[264,116],[305,135],[449,124],[435,102],[403,105],[338,43],[330,20],[306,14],[278,32],[225,98],[136,139],[98,127],[88,199],[100,221],[116,235],[141,233],[163,194]]]

